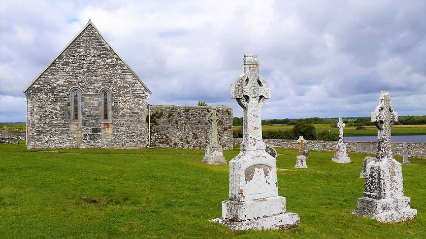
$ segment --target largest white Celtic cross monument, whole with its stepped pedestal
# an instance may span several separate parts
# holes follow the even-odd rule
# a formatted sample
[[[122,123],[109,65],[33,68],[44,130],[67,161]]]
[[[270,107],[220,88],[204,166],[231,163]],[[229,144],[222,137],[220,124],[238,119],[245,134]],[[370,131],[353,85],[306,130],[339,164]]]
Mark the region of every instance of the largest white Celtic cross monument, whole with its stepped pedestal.
[[[211,220],[231,230],[286,229],[299,225],[299,214],[286,212],[278,195],[275,157],[265,151],[260,107],[271,88],[259,75],[256,55],[244,55],[244,73],[231,85],[231,98],[243,108],[243,141],[230,161],[229,200],[222,202],[222,217]]]

